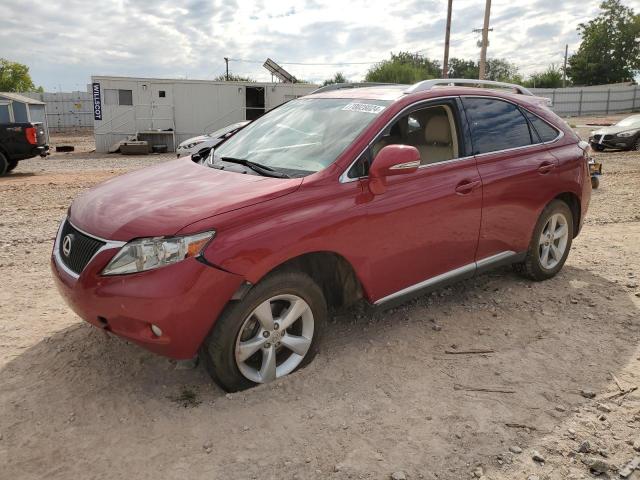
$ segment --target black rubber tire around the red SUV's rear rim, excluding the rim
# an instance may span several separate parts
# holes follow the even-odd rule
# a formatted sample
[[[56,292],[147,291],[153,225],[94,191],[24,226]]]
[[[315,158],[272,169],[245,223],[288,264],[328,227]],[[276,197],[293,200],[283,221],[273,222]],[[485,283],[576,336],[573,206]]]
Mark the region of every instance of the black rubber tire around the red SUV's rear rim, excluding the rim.
[[[562,214],[566,219],[567,225],[567,243],[562,254],[562,257],[553,268],[545,268],[541,263],[541,244],[540,237],[543,233],[543,229],[547,225],[549,219],[555,214]],[[569,251],[571,250],[571,243],[573,241],[573,214],[571,209],[562,200],[551,201],[540,214],[536,227],[533,229],[533,236],[529,243],[529,249],[527,250],[527,256],[522,263],[514,265],[516,271],[521,273],[527,278],[535,281],[547,280],[555,276],[564,266],[567,260]]]

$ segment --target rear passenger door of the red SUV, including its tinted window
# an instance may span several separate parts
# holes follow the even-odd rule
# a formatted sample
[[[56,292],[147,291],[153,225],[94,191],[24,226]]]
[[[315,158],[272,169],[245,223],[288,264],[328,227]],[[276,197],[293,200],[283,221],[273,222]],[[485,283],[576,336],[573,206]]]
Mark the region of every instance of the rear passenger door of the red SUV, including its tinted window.
[[[463,97],[482,179],[476,260],[527,250],[540,212],[554,196],[557,159],[516,104]]]

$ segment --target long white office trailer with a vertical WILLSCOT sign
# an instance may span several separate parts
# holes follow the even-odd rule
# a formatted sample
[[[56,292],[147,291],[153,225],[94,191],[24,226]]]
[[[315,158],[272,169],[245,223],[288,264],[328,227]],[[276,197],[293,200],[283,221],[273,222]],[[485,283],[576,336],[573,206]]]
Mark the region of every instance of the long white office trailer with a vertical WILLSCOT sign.
[[[169,151],[190,137],[253,120],[316,88],[308,83],[91,77],[96,151],[136,135]]]

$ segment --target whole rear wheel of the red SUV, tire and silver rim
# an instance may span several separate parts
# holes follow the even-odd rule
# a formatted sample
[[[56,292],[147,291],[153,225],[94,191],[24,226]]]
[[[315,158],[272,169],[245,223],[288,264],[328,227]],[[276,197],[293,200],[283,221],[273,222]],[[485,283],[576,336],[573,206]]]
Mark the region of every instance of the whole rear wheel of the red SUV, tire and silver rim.
[[[516,269],[532,280],[546,280],[564,265],[573,240],[573,214],[561,200],[553,200],[540,214],[524,262]]]

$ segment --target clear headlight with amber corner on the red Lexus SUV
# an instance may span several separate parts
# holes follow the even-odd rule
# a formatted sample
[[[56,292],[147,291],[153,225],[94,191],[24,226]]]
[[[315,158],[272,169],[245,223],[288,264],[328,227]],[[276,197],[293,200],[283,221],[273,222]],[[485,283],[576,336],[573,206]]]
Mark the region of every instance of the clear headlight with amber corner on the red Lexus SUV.
[[[144,272],[195,257],[215,236],[204,232],[184,237],[140,238],[127,243],[102,271],[103,275]]]

